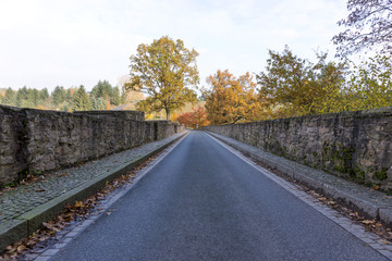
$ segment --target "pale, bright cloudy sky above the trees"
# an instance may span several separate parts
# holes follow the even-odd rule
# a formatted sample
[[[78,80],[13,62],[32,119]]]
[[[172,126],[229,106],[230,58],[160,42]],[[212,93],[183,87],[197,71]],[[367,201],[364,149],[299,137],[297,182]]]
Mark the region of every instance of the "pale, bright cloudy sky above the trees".
[[[217,70],[265,70],[268,50],[328,51],[345,0],[0,0],[0,87],[54,89],[130,73],[140,44],[169,36],[199,57],[200,86]]]

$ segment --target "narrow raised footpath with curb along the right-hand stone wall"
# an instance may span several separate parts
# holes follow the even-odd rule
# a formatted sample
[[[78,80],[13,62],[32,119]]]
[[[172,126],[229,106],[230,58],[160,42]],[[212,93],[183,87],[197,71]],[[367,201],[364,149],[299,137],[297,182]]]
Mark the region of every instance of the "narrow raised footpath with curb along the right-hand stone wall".
[[[392,199],[385,197],[385,194],[369,191],[359,184],[274,156],[238,140],[211,132],[206,133],[240,150],[252,159],[260,161],[272,169],[277,169],[311,189],[333,198],[340,204],[358,212],[366,219],[380,221],[387,227],[392,228]]]

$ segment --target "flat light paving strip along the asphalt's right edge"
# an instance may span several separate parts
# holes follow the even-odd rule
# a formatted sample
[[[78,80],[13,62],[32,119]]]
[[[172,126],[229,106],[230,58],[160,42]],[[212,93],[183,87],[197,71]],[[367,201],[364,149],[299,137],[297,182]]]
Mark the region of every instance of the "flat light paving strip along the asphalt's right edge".
[[[348,233],[364,241],[365,245],[371,247],[376,251],[380,252],[382,256],[388,258],[389,260],[392,260],[392,245],[385,244],[380,236],[378,236],[375,233],[367,232],[363,226],[355,224],[353,221],[347,219],[346,216],[342,215],[338,211],[330,209],[329,207],[322,204],[319,200],[315,199],[313,196],[306,194],[304,190],[299,188],[299,186],[289,183],[287,181],[274,175],[270,171],[261,167],[257,163],[249,160],[247,157],[245,157],[243,153],[241,153],[238,150],[230,147],[229,145],[224,144],[223,141],[212,137],[209,135],[212,139],[215,139],[217,142],[219,142],[221,146],[223,146],[225,149],[231,151],[233,154],[242,159],[243,161],[247,162],[249,165],[255,167],[257,171],[266,175],[268,178],[272,179],[274,183],[282,186],[284,189],[286,189],[289,192],[304,201],[305,203],[309,204],[314,209],[316,209],[318,212],[327,216],[328,219],[332,220],[334,223],[346,229]]]

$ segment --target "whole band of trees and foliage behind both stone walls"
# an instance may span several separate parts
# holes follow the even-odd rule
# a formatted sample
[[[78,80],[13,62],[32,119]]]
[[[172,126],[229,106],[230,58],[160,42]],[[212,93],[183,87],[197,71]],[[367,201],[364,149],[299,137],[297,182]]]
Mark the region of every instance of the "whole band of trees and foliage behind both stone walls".
[[[147,120],[179,121],[192,128],[390,107],[391,1],[348,0],[347,10],[348,16],[338,22],[345,29],[332,38],[334,60],[327,52],[301,58],[286,46],[269,50],[259,73],[236,76],[218,70],[207,78],[208,86],[199,87],[197,51],[163,36],[137,47],[120,87],[103,80],[89,94],[84,86],[57,86],[50,95],[47,88],[3,88],[0,102],[69,112],[142,110]],[[363,60],[351,61],[358,60],[354,54]]]

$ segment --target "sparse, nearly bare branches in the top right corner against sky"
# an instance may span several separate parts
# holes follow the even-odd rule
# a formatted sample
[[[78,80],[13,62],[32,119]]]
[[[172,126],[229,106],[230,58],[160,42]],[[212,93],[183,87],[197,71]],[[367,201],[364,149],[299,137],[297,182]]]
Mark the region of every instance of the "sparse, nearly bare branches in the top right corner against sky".
[[[338,24],[350,28],[332,38],[339,46],[336,55],[372,48],[392,52],[391,0],[348,0],[347,10],[348,16]]]

